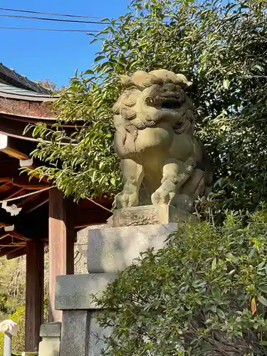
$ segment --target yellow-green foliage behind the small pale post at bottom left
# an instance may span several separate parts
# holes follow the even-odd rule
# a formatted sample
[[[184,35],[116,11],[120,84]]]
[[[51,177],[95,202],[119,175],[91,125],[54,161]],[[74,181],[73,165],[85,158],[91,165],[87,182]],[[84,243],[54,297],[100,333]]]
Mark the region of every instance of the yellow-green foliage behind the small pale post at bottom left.
[[[21,352],[25,351],[25,305],[17,308],[16,312],[9,315],[8,319],[19,325],[19,333],[12,339],[12,353],[21,355]],[[4,355],[4,333],[0,333],[0,354]]]

